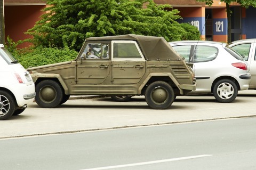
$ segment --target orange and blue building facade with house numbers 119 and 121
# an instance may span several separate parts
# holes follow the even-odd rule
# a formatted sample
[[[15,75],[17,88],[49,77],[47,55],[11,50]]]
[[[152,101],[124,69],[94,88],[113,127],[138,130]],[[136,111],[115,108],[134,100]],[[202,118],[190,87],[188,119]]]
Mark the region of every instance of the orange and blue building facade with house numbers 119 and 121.
[[[198,28],[203,40],[227,42],[227,13],[226,3],[213,0],[212,6],[207,6],[196,0],[155,0],[156,4],[171,4],[178,9],[183,18],[179,22],[189,22]],[[246,38],[256,38],[256,8],[245,9],[237,3],[230,4],[231,12],[231,41]]]

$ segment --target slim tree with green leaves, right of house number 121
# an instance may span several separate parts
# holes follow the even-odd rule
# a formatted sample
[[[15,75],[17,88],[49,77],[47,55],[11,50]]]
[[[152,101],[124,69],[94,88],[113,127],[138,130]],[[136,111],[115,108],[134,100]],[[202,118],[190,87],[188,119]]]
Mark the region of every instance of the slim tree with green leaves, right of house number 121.
[[[211,6],[213,4],[213,0],[197,0],[199,2],[204,2],[206,5]],[[221,2],[226,3],[226,11],[227,11],[227,19],[228,19],[228,43],[231,43],[231,12],[230,12],[230,4],[231,3],[239,3],[243,7],[253,6],[256,7],[255,0],[220,0]]]

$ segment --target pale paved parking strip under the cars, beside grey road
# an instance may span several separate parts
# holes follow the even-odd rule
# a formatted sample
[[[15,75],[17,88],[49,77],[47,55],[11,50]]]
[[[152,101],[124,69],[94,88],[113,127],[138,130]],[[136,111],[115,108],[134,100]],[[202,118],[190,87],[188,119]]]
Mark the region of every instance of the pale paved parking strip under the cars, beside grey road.
[[[0,122],[0,139],[256,116],[255,96],[256,91],[241,91],[232,103],[218,103],[213,96],[178,96],[166,110],[150,109],[143,98],[68,100],[53,109],[33,102],[21,115]]]

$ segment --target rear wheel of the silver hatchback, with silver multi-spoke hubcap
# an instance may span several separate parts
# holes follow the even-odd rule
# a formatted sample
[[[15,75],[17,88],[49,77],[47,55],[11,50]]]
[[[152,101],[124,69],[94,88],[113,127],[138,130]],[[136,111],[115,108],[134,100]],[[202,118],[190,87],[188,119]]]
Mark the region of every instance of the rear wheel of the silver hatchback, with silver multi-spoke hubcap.
[[[238,88],[230,79],[219,80],[213,87],[214,98],[221,103],[230,103],[236,99]]]

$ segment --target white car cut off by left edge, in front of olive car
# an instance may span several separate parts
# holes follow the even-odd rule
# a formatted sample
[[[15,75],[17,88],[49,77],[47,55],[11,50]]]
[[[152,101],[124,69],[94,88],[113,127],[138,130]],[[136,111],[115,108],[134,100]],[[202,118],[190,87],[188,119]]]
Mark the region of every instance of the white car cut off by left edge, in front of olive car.
[[[0,120],[21,114],[35,95],[29,72],[0,44]]]

